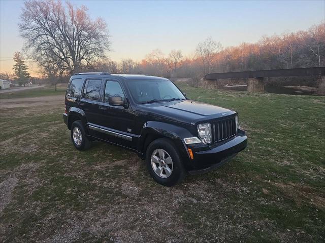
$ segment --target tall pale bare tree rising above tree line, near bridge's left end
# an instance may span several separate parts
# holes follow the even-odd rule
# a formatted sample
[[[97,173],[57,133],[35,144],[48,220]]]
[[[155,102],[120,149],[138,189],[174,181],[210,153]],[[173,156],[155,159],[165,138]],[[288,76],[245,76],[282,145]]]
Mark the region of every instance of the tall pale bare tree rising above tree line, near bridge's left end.
[[[204,42],[200,42],[196,49],[196,54],[200,58],[203,65],[203,74],[209,73],[212,66],[213,57],[222,50],[219,42],[213,41],[212,37],[206,38]]]

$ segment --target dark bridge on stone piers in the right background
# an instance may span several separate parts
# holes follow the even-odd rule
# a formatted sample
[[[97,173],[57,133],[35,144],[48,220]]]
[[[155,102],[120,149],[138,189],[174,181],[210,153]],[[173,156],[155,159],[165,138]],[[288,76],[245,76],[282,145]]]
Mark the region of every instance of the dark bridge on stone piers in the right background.
[[[257,70],[244,72],[219,72],[205,75],[206,88],[218,89],[217,80],[220,78],[248,78],[249,92],[264,91],[265,77],[315,76],[321,78],[325,85],[325,67],[307,67],[290,69]]]

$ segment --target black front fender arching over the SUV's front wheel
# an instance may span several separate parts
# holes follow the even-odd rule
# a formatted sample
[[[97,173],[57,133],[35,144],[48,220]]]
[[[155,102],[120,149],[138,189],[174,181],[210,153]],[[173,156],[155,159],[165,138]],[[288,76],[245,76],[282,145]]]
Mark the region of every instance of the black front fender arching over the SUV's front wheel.
[[[146,150],[144,146],[148,135],[170,138],[175,143],[184,164],[189,160],[189,154],[183,139],[193,135],[187,129],[168,123],[161,123],[160,121],[147,121],[141,130],[137,148],[138,152],[142,154]]]

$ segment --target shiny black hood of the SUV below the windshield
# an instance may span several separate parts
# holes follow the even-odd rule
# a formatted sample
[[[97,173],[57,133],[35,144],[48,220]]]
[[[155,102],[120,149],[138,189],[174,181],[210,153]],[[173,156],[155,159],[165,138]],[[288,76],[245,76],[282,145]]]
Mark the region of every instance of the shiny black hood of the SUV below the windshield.
[[[220,106],[191,100],[145,104],[141,105],[141,108],[149,114],[163,116],[192,125],[198,121],[208,121],[236,113]]]

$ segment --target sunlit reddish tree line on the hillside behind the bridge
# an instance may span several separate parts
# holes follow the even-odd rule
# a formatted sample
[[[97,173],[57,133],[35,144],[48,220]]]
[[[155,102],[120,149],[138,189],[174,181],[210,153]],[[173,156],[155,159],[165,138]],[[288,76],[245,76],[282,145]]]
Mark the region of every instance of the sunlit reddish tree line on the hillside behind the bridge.
[[[177,55],[175,55],[177,54]],[[173,65],[171,65],[173,64]],[[164,55],[159,49],[140,62],[109,61],[98,69],[112,73],[143,73],[165,77],[203,77],[211,72],[235,72],[325,66],[325,24],[308,30],[263,36],[256,43],[223,48],[211,37],[199,43],[195,54],[181,50]]]

